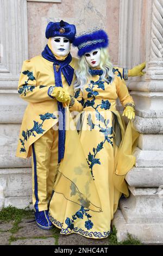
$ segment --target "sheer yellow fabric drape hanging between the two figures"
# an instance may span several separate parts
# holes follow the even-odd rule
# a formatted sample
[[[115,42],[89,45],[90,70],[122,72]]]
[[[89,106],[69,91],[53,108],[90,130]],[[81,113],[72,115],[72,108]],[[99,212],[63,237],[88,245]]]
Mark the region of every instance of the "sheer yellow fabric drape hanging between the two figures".
[[[58,166],[54,191],[87,209],[102,211],[98,192],[68,107],[66,107],[65,155]]]

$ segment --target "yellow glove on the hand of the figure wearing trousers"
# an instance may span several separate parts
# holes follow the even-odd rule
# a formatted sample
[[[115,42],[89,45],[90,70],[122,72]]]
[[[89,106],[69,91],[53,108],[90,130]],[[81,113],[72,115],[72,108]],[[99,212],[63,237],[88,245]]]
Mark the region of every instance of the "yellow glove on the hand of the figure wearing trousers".
[[[59,102],[70,103],[71,97],[70,94],[62,87],[55,87],[52,93],[52,96]]]

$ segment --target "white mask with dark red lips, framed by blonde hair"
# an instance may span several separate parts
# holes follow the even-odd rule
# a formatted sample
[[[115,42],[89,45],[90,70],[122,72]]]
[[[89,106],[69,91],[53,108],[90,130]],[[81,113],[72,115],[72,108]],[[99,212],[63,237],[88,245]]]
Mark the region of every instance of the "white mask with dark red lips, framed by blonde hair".
[[[91,52],[86,52],[84,55],[87,64],[89,64],[91,68],[96,68],[96,66],[99,66],[101,63],[100,48],[92,50]]]

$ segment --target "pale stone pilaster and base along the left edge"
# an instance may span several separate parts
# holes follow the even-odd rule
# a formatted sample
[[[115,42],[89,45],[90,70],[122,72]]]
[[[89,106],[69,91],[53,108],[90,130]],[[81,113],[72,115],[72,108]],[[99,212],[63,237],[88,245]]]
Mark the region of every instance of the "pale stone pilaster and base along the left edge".
[[[28,59],[26,0],[0,0],[0,209],[24,208],[31,200],[29,160],[15,156],[18,132],[27,106],[17,93],[24,59]]]

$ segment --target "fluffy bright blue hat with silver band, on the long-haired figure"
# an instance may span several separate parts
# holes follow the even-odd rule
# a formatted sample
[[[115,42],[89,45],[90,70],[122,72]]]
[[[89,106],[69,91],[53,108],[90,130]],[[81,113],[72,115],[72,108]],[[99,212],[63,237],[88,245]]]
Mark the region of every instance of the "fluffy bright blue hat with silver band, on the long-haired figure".
[[[73,45],[78,47],[78,56],[82,57],[86,52],[107,47],[109,45],[109,38],[103,29],[94,27],[90,31],[76,36]]]

